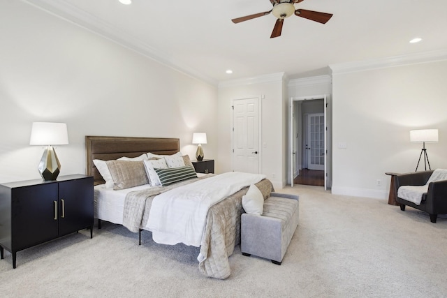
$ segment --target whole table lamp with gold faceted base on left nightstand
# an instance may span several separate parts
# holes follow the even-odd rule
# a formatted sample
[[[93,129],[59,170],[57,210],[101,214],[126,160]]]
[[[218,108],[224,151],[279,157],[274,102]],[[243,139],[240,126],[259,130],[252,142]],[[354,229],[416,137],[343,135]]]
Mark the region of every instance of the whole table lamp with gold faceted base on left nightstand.
[[[34,122],[31,127],[30,145],[47,146],[43,151],[38,170],[43,179],[56,180],[61,164],[52,145],[67,145],[67,125],[64,123]]]

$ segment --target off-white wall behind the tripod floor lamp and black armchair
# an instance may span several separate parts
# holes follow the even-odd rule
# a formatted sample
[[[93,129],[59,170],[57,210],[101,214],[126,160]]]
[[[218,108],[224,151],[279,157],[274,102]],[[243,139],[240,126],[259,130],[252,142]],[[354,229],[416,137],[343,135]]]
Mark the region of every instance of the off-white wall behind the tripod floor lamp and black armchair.
[[[387,198],[385,172],[416,168],[422,144],[409,142],[411,129],[439,129],[427,153],[432,169],[447,168],[446,73],[445,60],[333,73],[332,193]]]

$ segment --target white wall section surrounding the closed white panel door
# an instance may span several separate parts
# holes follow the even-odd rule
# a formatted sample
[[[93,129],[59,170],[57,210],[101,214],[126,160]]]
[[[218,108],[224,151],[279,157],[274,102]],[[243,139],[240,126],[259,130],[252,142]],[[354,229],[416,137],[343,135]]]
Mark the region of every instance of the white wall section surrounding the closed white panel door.
[[[233,100],[249,97],[261,98],[261,172],[265,174],[275,188],[280,189],[285,184],[284,163],[284,91],[283,75],[275,74],[252,80],[224,82],[219,84],[219,146],[217,166],[219,172],[233,170],[232,158],[232,128]]]

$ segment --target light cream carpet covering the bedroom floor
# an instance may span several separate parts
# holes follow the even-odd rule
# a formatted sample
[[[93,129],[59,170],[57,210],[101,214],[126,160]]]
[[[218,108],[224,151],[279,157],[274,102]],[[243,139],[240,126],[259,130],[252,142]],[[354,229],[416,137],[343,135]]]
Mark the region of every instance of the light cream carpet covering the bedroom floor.
[[[447,219],[385,200],[300,195],[300,223],[281,266],[237,246],[231,276],[198,271],[198,248],[163,246],[104,223],[0,261],[1,297],[447,297]]]

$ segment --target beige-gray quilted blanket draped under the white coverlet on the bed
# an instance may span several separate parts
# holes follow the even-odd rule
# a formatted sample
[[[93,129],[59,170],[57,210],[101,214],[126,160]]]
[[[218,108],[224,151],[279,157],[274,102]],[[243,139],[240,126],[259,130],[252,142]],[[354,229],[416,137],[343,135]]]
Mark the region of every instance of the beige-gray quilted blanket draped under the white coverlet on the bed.
[[[205,178],[206,176],[198,179]],[[129,193],[124,204],[123,225],[132,232],[138,232],[147,224],[150,206],[155,195],[198,179],[189,179],[172,186],[154,187]],[[267,179],[259,181],[256,186],[263,193],[264,200],[273,191],[272,183]],[[200,255],[204,257],[204,260],[199,263],[199,270],[202,274],[221,279],[230,276],[228,257],[233,254],[235,246],[240,244],[240,216],[244,211],[242,196],[247,191],[248,187],[242,188],[212,206],[208,211],[205,233],[200,244]]]

